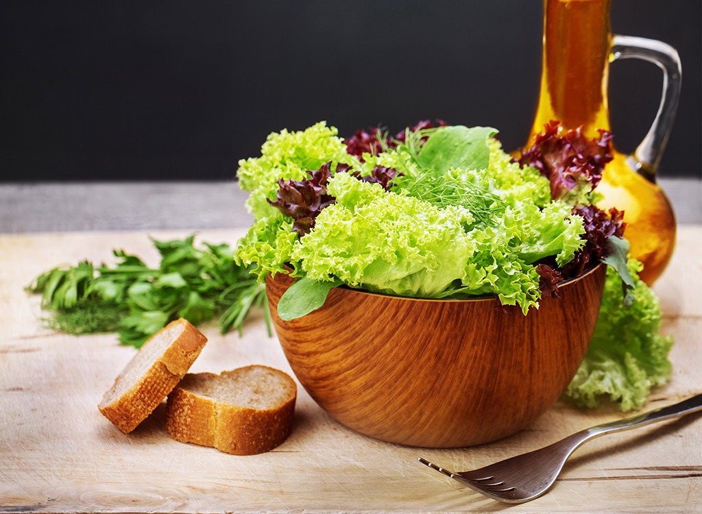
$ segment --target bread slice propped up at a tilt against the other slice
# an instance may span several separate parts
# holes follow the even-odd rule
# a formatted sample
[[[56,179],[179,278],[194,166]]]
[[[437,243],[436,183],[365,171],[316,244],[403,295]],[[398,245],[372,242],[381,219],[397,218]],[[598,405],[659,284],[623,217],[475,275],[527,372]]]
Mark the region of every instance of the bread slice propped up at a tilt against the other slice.
[[[119,430],[130,433],[171,393],[206,342],[186,319],[169,323],[132,357],[98,409]]]

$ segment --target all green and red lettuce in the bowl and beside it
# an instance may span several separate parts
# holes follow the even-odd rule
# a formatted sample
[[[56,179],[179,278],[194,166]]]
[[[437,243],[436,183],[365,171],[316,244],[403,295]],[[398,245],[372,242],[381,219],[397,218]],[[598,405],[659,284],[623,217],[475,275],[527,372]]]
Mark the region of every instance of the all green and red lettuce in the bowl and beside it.
[[[612,158],[611,133],[586,137],[552,121],[512,158],[491,127],[420,121],[341,138],[319,122],[272,133],[239,162],[255,220],[235,258],[263,281],[298,280],[278,306],[303,316],[344,285],[416,298],[494,296],[527,315],[557,284],[604,261],[606,294],[595,338],[569,387],[579,403],[602,395],[641,407],[670,374],[672,341],[660,306],[628,259],[623,213],[596,206]],[[631,330],[636,325],[638,330]]]

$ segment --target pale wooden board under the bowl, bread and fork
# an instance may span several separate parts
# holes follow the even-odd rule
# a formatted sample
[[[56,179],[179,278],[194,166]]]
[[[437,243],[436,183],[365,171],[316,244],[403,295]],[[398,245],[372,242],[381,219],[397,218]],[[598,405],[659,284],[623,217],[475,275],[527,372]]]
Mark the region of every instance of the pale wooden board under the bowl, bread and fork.
[[[23,287],[59,263],[110,261],[124,248],[152,263],[149,235],[185,232],[80,232],[0,236],[0,512],[486,512],[497,503],[422,464],[423,456],[457,470],[544,446],[588,426],[621,419],[557,403],[533,426],[505,440],[466,449],[418,449],[372,440],[336,423],[300,388],[296,424],[274,451],[233,456],[175,442],[164,405],[131,435],[97,405],[133,348],[114,335],[73,337],[45,329],[39,298]],[[240,231],[208,231],[208,242],[234,243]],[[702,227],[682,226],[677,251],[656,284],[673,334],[675,366],[647,408],[702,390]],[[209,338],[192,371],[267,364],[291,372],[260,312],[243,336]],[[702,416],[588,442],[552,490],[510,512],[701,512]]]

